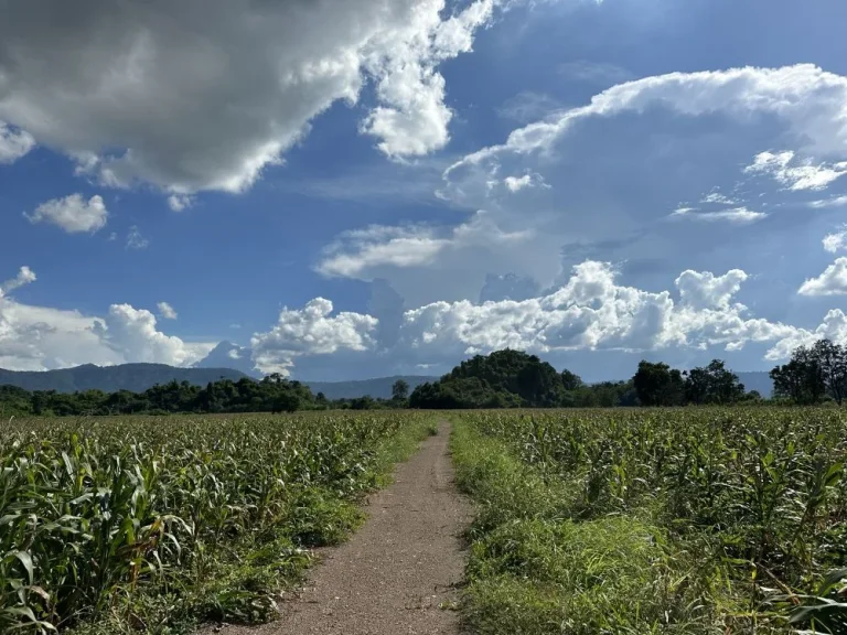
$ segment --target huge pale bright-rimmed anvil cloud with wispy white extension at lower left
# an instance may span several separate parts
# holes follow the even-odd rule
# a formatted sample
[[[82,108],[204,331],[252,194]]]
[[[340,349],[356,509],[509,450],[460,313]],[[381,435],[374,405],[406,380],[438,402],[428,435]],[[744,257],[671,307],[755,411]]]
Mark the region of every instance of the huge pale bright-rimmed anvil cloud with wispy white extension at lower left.
[[[790,205],[838,183],[846,112],[847,77],[807,64],[619,84],[587,105],[539,114],[444,171],[442,200],[484,211],[504,235],[530,233],[532,249],[486,251],[451,240],[449,228],[401,226],[361,245],[342,237],[339,260],[325,257],[319,270],[385,278],[415,305],[474,298],[489,273],[560,284],[586,257],[633,267],[662,259],[666,272],[704,267],[693,258],[784,232]],[[755,267],[743,252],[738,265]]]

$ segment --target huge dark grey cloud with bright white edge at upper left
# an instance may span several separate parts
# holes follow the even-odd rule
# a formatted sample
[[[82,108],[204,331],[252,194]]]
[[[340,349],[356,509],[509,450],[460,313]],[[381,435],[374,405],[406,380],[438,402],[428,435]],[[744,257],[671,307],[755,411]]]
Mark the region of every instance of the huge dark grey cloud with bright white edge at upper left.
[[[392,157],[425,154],[449,139],[438,65],[498,3],[4,2],[0,118],[25,132],[0,128],[0,157],[34,138],[111,185],[238,192],[371,78],[363,131]]]

